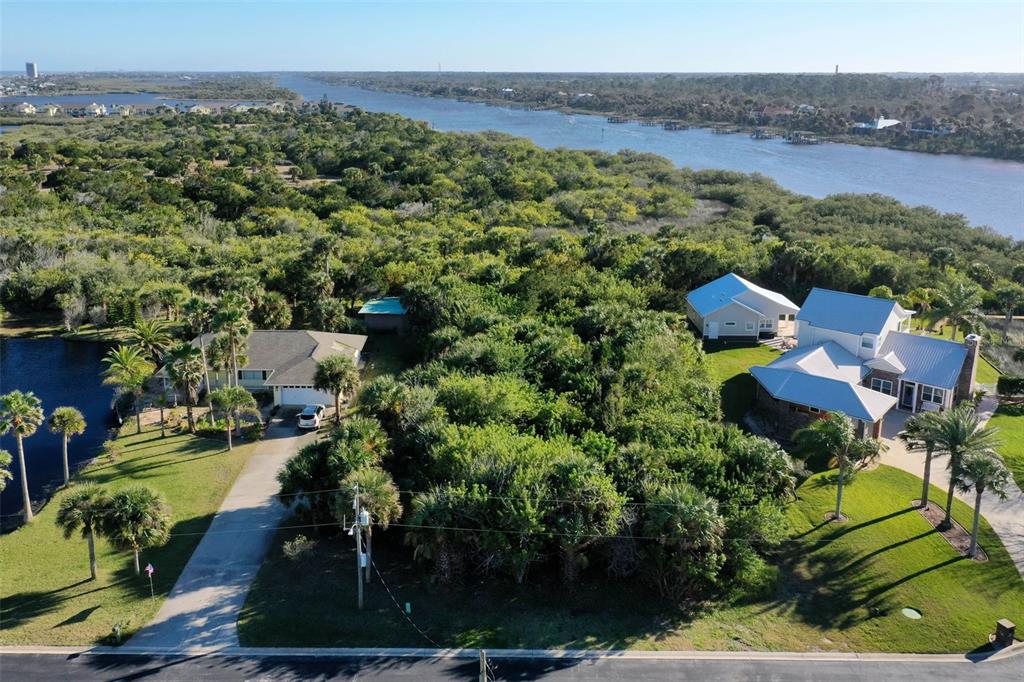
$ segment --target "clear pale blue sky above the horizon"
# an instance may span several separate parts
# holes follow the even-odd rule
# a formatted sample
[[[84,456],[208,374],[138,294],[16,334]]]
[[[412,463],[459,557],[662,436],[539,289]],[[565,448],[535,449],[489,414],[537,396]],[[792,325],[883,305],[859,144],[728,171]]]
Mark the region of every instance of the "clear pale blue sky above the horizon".
[[[1024,72],[1024,2],[0,1],[0,70]]]

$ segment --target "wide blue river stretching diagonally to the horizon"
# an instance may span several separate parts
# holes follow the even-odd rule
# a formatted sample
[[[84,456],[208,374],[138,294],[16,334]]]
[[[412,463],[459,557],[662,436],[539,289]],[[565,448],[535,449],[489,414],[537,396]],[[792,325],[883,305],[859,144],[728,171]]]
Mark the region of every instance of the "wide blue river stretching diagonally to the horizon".
[[[710,130],[663,130],[638,123],[608,124],[603,117],[493,106],[476,102],[332,86],[297,74],[278,84],[316,100],[325,94],[371,112],[427,121],[437,130],[498,130],[541,146],[652,152],[693,169],[762,173],[811,197],[882,194],[910,206],[961,213],[975,225],[1024,239],[1024,164],[978,157],[921,154],[856,144],[788,144]]]

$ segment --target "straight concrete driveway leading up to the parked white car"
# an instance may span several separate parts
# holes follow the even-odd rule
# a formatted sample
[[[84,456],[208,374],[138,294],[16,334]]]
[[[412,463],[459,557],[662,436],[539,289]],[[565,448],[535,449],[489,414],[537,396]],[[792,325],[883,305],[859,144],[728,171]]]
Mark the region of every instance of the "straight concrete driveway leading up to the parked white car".
[[[167,601],[132,637],[132,645],[239,645],[239,613],[286,512],[274,498],[278,472],[313,438],[298,432],[290,419],[270,424]]]

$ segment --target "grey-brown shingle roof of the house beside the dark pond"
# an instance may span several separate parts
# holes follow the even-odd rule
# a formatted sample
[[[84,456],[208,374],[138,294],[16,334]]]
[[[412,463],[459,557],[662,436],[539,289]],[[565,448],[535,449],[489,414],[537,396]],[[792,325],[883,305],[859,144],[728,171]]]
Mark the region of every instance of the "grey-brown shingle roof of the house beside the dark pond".
[[[215,334],[204,334],[209,346]],[[328,355],[348,355],[353,361],[367,343],[359,334],[308,330],[257,330],[248,339],[249,364],[240,370],[270,370],[267,386],[311,386],[316,364]],[[199,338],[193,341],[199,346]]]

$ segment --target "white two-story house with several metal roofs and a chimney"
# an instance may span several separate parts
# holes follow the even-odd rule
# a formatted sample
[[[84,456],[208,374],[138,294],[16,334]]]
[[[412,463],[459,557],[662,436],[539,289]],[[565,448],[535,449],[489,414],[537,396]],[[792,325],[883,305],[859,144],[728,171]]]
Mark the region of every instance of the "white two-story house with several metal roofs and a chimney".
[[[980,338],[910,334],[912,315],[889,299],[812,290],[797,314],[797,348],[751,368],[759,402],[783,427],[840,412],[878,437],[893,408],[943,411],[970,397]]]

